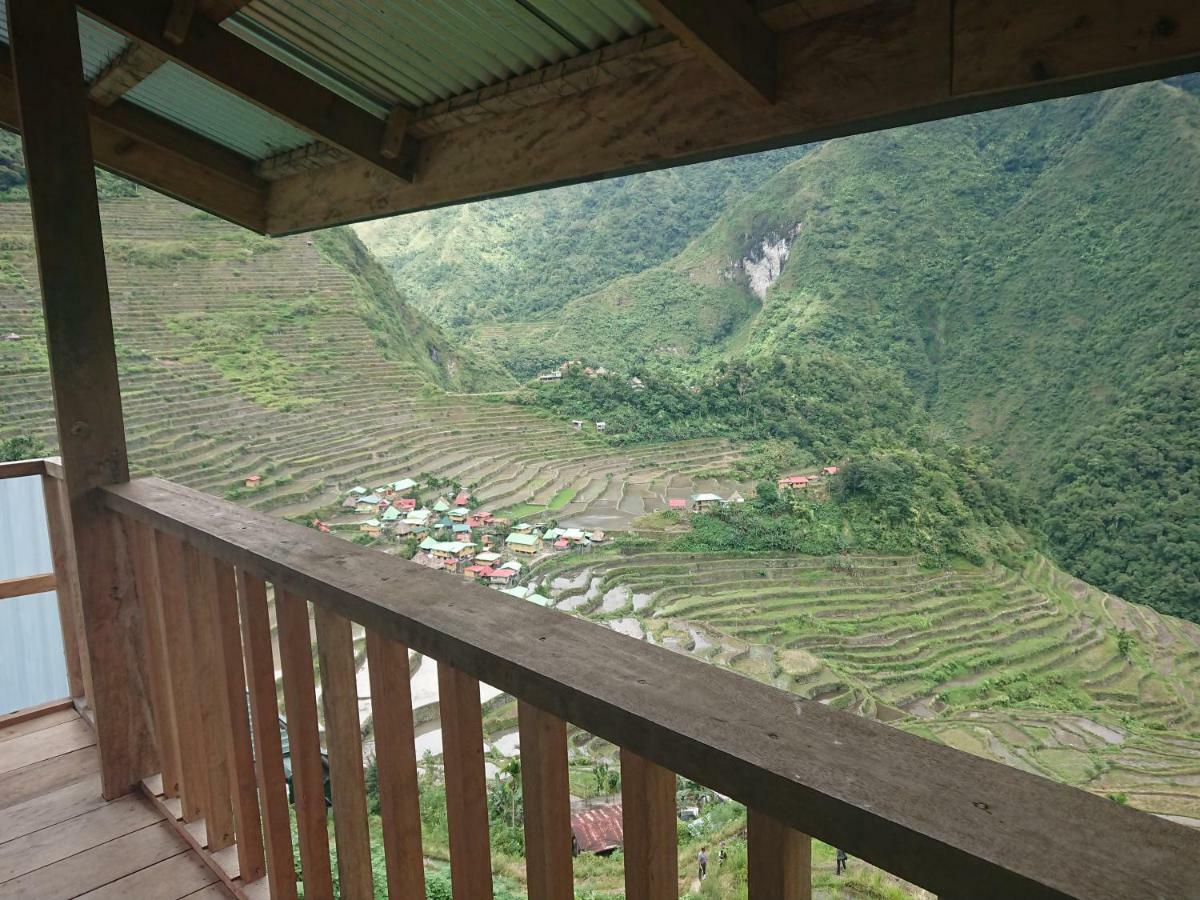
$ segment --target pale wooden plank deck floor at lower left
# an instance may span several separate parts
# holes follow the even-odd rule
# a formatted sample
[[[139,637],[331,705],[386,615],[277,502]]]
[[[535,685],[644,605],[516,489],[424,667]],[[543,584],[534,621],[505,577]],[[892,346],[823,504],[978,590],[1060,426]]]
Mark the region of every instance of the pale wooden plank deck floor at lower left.
[[[230,896],[150,800],[106,803],[98,772],[74,709],[0,727],[0,898]]]

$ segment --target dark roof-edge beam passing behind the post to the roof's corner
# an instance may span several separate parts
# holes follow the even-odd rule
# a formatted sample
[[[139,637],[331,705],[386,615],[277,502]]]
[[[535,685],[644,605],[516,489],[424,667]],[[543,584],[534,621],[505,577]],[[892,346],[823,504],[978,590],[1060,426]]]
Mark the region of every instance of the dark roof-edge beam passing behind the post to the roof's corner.
[[[234,224],[262,232],[265,182],[254,163],[127,101],[90,103],[95,163]],[[0,126],[20,131],[11,54],[0,47]]]

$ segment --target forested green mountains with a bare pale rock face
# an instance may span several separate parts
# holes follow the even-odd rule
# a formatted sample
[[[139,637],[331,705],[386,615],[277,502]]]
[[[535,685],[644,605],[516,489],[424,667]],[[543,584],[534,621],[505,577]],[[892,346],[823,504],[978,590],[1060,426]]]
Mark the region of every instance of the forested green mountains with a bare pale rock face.
[[[773,172],[726,193],[672,182],[694,236],[670,256],[660,233],[674,208],[659,181],[634,176],[620,186],[624,221],[664,216],[637,232],[662,257],[648,265],[588,268],[560,229],[530,230],[574,216],[593,251],[620,256],[629,235],[581,218],[582,187],[539,194],[535,220],[530,200],[511,198],[455,221],[439,211],[377,223],[364,238],[433,318],[472,298],[456,331],[516,374],[581,359],[661,388],[592,383],[590,404],[580,384],[540,389],[564,414],[574,404],[637,438],[778,436],[832,452],[871,440],[816,428],[805,444],[811,422],[846,386],[871,384],[872,397],[853,401],[863,430],[932,428],[994,448],[1068,569],[1196,617],[1198,92],[1189,77],[746,157]],[[674,178],[707,185],[708,166]],[[485,299],[466,275],[426,278],[410,256],[389,256],[389,244],[437,234],[467,272],[484,251],[460,236],[480,217],[518,230],[538,259],[508,258]],[[581,289],[557,306],[530,301],[529,284],[559,264]],[[739,398],[758,415],[728,413]]]

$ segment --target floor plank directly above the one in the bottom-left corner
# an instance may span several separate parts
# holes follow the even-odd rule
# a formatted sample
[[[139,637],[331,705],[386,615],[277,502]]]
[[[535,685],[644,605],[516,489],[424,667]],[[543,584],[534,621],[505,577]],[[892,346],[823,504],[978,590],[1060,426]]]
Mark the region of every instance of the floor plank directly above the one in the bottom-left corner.
[[[0,844],[0,884],[160,821],[140,794]]]

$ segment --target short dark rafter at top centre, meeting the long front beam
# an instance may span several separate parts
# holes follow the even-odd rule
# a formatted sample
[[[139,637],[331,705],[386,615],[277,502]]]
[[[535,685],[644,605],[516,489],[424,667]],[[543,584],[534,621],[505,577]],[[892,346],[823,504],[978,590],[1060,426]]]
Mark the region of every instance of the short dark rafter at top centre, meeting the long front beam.
[[[775,98],[775,32],[754,7],[728,0],[640,0],[696,55],[756,101]]]

